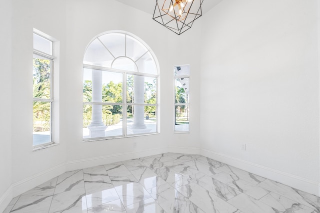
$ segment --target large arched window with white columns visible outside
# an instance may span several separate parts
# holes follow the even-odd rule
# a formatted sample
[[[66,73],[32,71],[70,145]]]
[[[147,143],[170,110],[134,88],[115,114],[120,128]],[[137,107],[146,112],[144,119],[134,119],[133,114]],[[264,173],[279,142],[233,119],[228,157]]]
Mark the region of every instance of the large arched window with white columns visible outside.
[[[83,58],[83,140],[157,133],[157,88],[143,41],[124,31],[94,37]]]

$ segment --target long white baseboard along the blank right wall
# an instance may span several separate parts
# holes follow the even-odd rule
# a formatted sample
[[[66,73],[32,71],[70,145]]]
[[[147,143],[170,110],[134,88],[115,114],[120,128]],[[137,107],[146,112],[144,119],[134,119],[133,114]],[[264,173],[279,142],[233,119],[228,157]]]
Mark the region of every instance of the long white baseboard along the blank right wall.
[[[252,174],[282,183],[284,185],[310,193],[312,195],[320,195],[320,183],[316,181],[281,172],[272,168],[264,167],[211,150],[201,149],[200,155],[248,171]]]

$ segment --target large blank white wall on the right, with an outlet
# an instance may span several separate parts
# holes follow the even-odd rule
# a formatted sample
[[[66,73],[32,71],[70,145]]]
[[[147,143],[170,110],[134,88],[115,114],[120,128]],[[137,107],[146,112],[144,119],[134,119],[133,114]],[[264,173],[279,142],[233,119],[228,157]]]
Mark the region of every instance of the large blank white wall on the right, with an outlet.
[[[202,153],[318,194],[317,1],[223,0],[202,29]]]

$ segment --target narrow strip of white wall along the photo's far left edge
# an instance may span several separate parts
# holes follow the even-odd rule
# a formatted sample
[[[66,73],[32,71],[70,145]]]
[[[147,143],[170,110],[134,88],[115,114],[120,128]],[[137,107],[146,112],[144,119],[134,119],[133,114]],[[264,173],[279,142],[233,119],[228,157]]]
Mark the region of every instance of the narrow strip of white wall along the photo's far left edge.
[[[2,0],[0,7],[0,204],[10,202],[11,190],[11,1]],[[0,212],[4,207],[0,205]]]

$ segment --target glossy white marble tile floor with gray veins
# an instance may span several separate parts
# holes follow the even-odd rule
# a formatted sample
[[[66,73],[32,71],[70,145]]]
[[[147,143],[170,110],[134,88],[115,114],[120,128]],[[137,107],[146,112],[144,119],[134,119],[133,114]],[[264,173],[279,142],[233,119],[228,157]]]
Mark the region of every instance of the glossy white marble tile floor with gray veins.
[[[4,213],[320,213],[320,198],[215,160],[179,153],[66,172]]]

